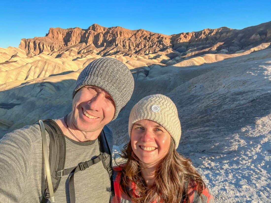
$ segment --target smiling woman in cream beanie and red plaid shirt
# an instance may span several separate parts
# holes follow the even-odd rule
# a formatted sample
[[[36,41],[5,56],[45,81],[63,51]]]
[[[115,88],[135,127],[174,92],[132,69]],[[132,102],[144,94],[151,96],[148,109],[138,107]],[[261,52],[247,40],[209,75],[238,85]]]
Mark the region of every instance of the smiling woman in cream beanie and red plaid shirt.
[[[181,125],[175,104],[162,94],[141,99],[129,117],[130,142],[113,167],[111,203],[214,202],[201,176],[176,149]]]

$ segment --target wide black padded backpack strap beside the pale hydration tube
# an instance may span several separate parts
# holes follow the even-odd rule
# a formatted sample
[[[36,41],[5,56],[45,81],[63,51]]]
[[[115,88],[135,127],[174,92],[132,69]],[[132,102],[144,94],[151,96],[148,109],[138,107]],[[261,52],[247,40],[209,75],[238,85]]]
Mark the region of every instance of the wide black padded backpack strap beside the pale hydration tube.
[[[49,144],[49,163],[51,171],[51,179],[54,192],[57,190],[61,177],[57,176],[56,171],[64,169],[65,157],[66,157],[66,142],[62,130],[51,119],[43,120],[45,130],[50,137]],[[44,149],[43,149],[44,150]],[[47,202],[50,197],[49,189],[47,185],[47,178],[45,180],[45,192],[41,202]]]

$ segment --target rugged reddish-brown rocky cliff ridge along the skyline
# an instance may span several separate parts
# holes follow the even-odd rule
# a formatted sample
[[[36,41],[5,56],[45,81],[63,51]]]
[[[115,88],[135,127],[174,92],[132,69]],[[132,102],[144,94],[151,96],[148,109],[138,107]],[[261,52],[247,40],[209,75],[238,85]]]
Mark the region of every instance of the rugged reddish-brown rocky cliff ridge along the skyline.
[[[243,30],[221,27],[198,32],[163,35],[143,29],[106,28],[93,24],[88,29],[78,27],[68,29],[50,28],[45,37],[22,39],[19,47],[26,50],[28,54],[35,55],[44,51],[57,51],[77,44],[81,44],[83,47],[94,45],[94,48],[99,51],[120,47],[124,51],[138,55],[156,53],[168,48],[183,53],[182,55],[217,52],[234,53],[263,42],[270,42],[270,27],[271,22],[267,22]],[[107,54],[102,53],[101,55]]]

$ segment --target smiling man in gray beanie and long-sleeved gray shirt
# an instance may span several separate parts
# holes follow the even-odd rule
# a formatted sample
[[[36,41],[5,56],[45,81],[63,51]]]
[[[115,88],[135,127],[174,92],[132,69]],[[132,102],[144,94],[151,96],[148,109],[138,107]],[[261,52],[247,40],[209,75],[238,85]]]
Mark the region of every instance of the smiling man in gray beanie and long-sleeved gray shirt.
[[[96,59],[83,69],[73,90],[72,111],[54,120],[65,137],[65,169],[100,154],[97,138],[130,100],[133,89],[130,70],[115,58]],[[47,132],[46,137],[49,150]],[[44,201],[42,150],[41,130],[37,124],[7,133],[0,140],[0,202]],[[61,177],[54,194],[55,202],[75,202],[69,194],[71,176],[72,173]],[[76,203],[109,202],[111,181],[103,162],[73,176]]]

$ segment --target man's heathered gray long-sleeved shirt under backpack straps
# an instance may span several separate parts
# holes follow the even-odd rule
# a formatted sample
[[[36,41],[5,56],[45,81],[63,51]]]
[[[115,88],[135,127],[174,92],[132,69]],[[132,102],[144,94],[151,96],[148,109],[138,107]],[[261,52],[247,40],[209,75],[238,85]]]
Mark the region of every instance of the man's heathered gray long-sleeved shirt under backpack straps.
[[[49,152],[49,135],[47,150]],[[99,143],[76,142],[65,136],[64,168],[78,165],[100,154]],[[0,140],[0,203],[40,202],[42,191],[42,139],[39,125],[25,126]],[[111,182],[102,162],[74,175],[76,203],[109,202]],[[70,202],[69,175],[61,178],[55,202]]]

